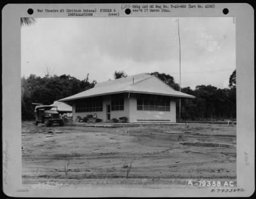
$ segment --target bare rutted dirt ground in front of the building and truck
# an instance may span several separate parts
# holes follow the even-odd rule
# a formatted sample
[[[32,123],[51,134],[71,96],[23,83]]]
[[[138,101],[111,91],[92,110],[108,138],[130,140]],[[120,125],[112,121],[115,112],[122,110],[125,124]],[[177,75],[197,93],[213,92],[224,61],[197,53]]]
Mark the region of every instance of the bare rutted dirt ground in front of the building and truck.
[[[236,125],[22,122],[24,186],[175,187],[203,179],[236,184]]]

